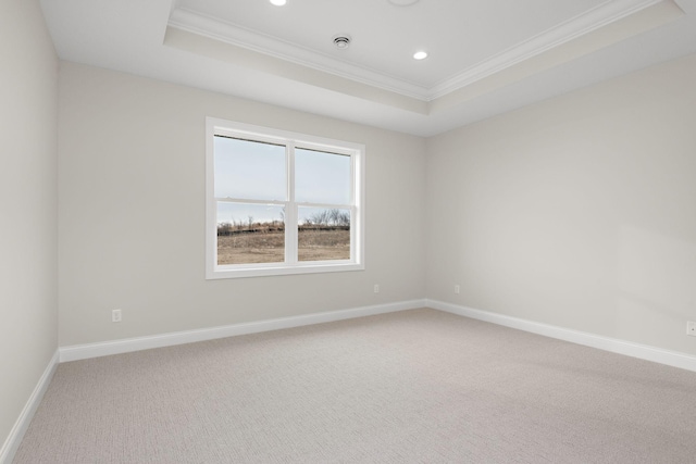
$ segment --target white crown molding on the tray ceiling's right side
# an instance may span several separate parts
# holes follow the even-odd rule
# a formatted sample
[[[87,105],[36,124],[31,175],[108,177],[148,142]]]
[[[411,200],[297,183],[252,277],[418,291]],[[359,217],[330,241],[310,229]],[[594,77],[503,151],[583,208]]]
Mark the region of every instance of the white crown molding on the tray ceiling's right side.
[[[493,74],[530,60],[548,50],[616,23],[658,3],[674,3],[672,0],[614,0],[607,1],[558,26],[551,27],[527,40],[484,60],[449,79],[435,85],[428,99],[435,100],[470,86]]]

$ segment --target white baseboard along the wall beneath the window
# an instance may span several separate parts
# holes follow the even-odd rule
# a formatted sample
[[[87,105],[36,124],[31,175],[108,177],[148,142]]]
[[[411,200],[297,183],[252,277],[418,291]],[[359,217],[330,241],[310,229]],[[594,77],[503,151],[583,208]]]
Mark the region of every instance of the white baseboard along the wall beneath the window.
[[[396,311],[414,310],[424,306],[425,300],[410,300],[395,303],[377,304],[372,306],[353,308],[348,310],[304,314],[300,316],[281,317],[252,323],[233,324],[221,327],[184,330],[149,337],[127,338],[98,343],[75,344],[70,347],[61,347],[59,349],[60,362],[64,363],[69,361],[108,356],[111,354],[129,353],[133,351],[149,350],[152,348],[172,347],[175,344],[192,343],[196,341],[213,340],[217,338],[234,337],[237,335],[257,334],[261,331],[278,330],[283,328],[350,319],[355,317],[371,316],[375,314],[393,313]]]

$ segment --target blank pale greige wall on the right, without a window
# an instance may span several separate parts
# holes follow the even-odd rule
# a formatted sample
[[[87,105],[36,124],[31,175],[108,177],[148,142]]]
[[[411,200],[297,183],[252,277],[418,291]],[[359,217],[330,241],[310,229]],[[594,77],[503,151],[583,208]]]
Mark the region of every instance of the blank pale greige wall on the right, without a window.
[[[696,55],[430,139],[427,297],[696,354],[694,83]]]

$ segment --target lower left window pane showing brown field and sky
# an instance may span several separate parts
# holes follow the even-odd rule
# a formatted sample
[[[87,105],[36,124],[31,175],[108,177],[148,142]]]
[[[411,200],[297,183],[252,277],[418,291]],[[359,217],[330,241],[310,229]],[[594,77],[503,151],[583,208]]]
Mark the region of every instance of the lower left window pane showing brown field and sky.
[[[285,261],[283,206],[217,202],[217,264]]]

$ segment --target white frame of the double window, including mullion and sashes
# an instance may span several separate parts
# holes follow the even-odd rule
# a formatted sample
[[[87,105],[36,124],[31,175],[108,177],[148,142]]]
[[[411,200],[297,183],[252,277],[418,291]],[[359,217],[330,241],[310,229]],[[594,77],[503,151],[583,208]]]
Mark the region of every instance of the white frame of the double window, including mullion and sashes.
[[[214,137],[226,136],[286,147],[287,201],[249,201],[259,204],[286,205],[285,262],[258,264],[217,264],[217,201],[215,198]],[[352,195],[350,202],[350,259],[334,261],[297,261],[297,209],[319,206],[316,203],[295,201],[294,149],[306,148],[351,156]],[[206,118],[206,278],[260,277],[291,274],[363,271],[364,266],[364,145],[309,136],[287,130]],[[247,201],[247,200],[245,200]],[[335,205],[326,205],[336,208]]]

